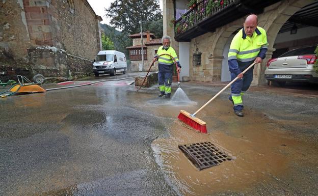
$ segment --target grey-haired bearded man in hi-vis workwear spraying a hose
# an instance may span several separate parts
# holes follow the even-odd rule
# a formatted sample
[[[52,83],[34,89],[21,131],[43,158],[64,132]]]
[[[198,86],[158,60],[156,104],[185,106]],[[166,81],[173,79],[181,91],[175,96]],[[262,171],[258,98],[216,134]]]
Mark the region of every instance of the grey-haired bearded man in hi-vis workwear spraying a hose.
[[[177,62],[177,72],[180,72],[181,66],[176,52],[170,46],[171,38],[169,36],[164,36],[161,39],[163,46],[158,48],[157,53],[153,59],[153,62],[158,61],[158,80],[159,80],[159,97],[170,98],[171,97],[171,83],[173,75],[174,60]],[[161,55],[169,54],[169,55]],[[161,55],[161,56],[160,56]],[[160,57],[159,57],[160,56]],[[172,59],[174,58],[174,60]]]

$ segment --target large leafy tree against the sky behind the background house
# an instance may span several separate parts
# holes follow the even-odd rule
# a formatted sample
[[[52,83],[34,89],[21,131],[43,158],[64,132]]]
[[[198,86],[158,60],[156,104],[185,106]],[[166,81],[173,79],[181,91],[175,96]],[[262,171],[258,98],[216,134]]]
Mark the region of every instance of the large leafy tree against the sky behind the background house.
[[[140,32],[139,21],[147,25],[162,18],[159,0],[115,0],[105,12],[111,24],[127,34]]]

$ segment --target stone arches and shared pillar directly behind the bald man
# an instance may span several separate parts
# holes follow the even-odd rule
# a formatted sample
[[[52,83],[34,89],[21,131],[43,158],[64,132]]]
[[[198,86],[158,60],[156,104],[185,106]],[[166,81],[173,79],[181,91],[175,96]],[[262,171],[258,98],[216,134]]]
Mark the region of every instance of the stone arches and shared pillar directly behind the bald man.
[[[256,65],[254,68],[254,79],[252,85],[259,85],[260,83],[266,82],[266,79],[264,78],[266,63],[268,62],[268,60],[271,59],[273,51],[275,51],[273,45],[282,25],[301,8],[313,2],[314,0],[283,0],[265,8],[264,12],[258,15],[258,25],[263,27],[263,29],[267,31],[269,49],[267,52],[267,56],[263,60],[261,65]],[[243,26],[243,23],[244,18],[237,19],[219,28],[214,33],[214,39],[210,47],[212,49],[212,52],[210,53],[208,58],[212,69],[216,70],[213,73],[214,77],[219,77],[219,75],[221,75],[220,71],[222,59],[226,58],[222,55],[226,41],[233,32]]]

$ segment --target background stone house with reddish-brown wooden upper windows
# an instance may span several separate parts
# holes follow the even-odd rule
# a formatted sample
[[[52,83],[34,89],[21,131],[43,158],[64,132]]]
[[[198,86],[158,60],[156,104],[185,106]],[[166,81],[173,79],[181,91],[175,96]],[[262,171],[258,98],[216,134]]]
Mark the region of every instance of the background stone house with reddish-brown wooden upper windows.
[[[144,67],[142,66],[141,36],[139,34],[129,35],[133,39],[133,46],[126,47],[129,50],[130,68],[129,71],[148,71],[157,49],[162,45],[161,39],[156,39],[149,31],[143,32]],[[150,71],[158,71],[157,62]]]

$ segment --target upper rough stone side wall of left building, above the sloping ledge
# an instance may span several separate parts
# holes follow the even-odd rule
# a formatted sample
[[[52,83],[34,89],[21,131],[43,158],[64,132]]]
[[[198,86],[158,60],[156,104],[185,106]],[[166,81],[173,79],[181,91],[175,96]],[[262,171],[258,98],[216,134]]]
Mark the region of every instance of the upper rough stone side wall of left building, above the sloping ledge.
[[[96,47],[98,19],[86,0],[51,1],[50,10],[50,26],[56,34],[55,46],[72,55],[93,60],[100,50]]]

